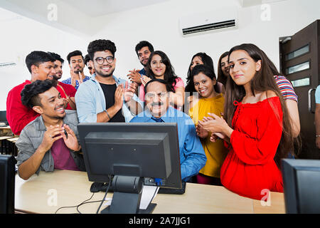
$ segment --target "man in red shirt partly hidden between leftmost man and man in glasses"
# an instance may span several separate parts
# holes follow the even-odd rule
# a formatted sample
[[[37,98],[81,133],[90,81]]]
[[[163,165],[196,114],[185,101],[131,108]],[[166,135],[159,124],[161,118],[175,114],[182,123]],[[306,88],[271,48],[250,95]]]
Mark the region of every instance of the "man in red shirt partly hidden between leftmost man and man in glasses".
[[[55,76],[53,76],[53,80],[57,83],[55,88],[60,92],[61,97],[65,102],[65,109],[75,110],[75,93],[77,93],[77,90],[69,84],[58,81],[63,75],[62,68],[65,61],[57,53],[50,52],[50,55],[55,58]]]

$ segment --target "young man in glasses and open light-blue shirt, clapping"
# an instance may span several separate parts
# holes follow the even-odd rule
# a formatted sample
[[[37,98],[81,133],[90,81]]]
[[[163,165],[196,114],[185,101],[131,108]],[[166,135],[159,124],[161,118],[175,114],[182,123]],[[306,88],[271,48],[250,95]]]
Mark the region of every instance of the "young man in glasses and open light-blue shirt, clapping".
[[[75,95],[80,123],[129,122],[142,112],[142,101],[134,94],[137,83],[113,75],[116,46],[109,40],[92,41],[87,52],[95,73],[82,83]]]

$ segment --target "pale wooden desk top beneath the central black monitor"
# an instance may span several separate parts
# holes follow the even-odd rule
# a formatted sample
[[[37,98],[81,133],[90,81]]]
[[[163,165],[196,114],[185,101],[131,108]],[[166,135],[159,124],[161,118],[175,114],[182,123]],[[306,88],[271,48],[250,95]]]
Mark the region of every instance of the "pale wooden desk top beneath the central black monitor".
[[[18,211],[55,213],[59,207],[76,206],[92,196],[86,172],[55,170],[40,172],[29,180],[16,175],[15,207]],[[90,201],[102,200],[105,192],[97,192]],[[56,196],[56,198],[55,198]],[[108,193],[107,198],[111,198]],[[56,199],[56,205],[55,200]],[[211,213],[284,213],[284,195],[271,192],[271,206],[259,200],[240,197],[225,187],[187,183],[183,195],[158,194],[153,200],[156,214]],[[100,202],[79,207],[82,213],[95,213]],[[103,209],[104,207],[102,207]],[[60,209],[58,213],[77,213],[75,208]]]

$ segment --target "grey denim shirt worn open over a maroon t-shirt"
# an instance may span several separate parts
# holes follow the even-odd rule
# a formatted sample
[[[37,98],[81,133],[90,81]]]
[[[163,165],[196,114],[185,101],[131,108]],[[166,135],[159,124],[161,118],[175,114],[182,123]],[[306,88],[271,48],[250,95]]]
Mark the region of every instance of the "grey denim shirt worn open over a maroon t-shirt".
[[[63,123],[68,125],[75,136],[79,140],[78,134],[78,118],[75,110],[65,110],[65,117],[63,118]],[[16,157],[17,165],[21,165],[23,162],[28,160],[34,152],[38,149],[39,145],[41,145],[43,140],[43,135],[46,133],[46,126],[43,123],[42,116],[36,118],[36,120],[31,121],[28,123],[25,128],[21,131],[21,135],[19,136],[18,140],[16,141],[16,147],[18,147],[18,156]],[[75,152],[70,150],[71,157],[75,161],[75,164],[78,166],[79,170],[85,171],[85,162],[83,160],[83,155],[79,152]],[[46,152],[44,155],[43,160],[41,161],[41,165],[36,171],[36,174],[39,174],[40,170],[44,170],[46,172],[53,172],[54,170],[54,160],[51,154],[51,150]]]

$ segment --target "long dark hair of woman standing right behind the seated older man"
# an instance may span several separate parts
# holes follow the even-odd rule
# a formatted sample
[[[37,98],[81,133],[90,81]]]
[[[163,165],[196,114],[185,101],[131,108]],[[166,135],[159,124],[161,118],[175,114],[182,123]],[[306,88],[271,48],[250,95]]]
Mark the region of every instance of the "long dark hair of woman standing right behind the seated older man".
[[[175,92],[174,86],[176,86],[176,78],[178,77],[176,76],[176,73],[174,73],[174,67],[171,65],[168,56],[166,56],[166,53],[164,53],[163,51],[154,51],[151,53],[148,63],[146,63],[146,75],[151,79],[156,79],[156,76],[154,76],[154,72],[152,72],[151,70],[151,59],[155,55],[160,56],[162,63],[166,65],[166,71],[164,72],[164,81],[168,83],[170,90]]]

